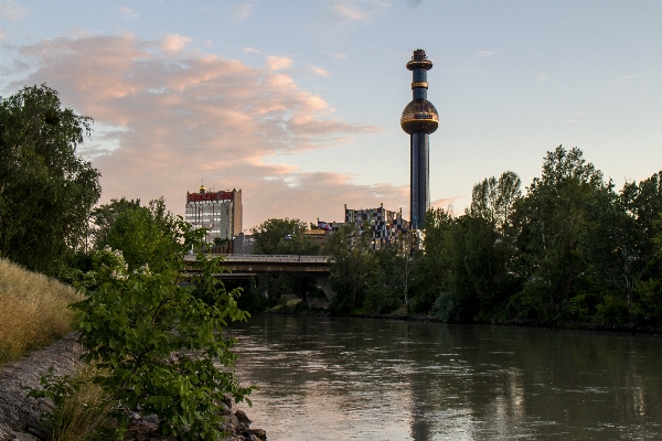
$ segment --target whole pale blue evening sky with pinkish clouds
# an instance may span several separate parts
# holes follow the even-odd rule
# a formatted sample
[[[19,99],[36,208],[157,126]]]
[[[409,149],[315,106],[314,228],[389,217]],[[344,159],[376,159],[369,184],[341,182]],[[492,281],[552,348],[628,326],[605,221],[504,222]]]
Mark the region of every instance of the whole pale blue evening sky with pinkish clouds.
[[[271,217],[408,218],[405,64],[433,61],[430,200],[461,214],[578,147],[613,180],[662,170],[662,1],[0,0],[0,96],[42,84],[94,120],[99,203],[242,190]]]

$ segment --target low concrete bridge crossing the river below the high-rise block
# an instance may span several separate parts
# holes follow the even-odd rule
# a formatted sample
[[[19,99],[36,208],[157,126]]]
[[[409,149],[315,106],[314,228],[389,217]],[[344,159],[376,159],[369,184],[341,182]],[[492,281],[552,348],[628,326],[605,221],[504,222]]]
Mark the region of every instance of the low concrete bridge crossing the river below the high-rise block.
[[[329,299],[333,291],[329,283],[329,256],[298,255],[212,255],[223,257],[223,266],[232,272],[222,272],[214,277],[222,280],[249,279],[258,273],[310,275]],[[186,261],[195,261],[195,255],[186,255]]]

